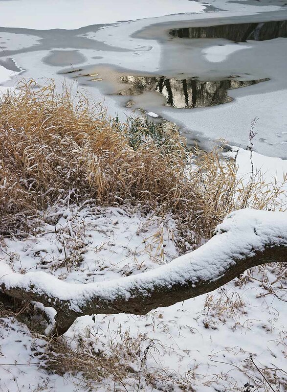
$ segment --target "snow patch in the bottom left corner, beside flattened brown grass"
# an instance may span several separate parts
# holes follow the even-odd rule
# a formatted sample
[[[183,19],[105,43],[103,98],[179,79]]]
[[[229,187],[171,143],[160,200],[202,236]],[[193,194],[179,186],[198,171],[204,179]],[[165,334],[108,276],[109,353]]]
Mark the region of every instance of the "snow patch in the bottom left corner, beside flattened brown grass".
[[[44,370],[47,342],[32,336],[24,324],[0,319],[0,342],[0,392],[75,392],[72,375]]]

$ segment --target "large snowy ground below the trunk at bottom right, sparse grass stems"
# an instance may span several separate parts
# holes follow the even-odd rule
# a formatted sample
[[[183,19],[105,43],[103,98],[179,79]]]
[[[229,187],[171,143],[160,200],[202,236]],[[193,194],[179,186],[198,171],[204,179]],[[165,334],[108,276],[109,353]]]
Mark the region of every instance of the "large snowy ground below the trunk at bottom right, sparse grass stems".
[[[224,391],[228,388],[233,391],[234,384],[243,388],[245,382],[250,382],[248,375],[252,376],[253,380],[258,379],[258,373],[254,374],[252,370],[248,372],[245,368],[249,354],[254,355],[256,364],[260,364],[260,367],[270,361],[275,367],[284,368],[281,348],[271,343],[272,339],[280,336],[280,330],[286,320],[284,305],[276,300],[276,303],[273,302],[274,307],[270,306],[268,296],[266,302],[264,299],[259,300],[257,295],[260,291],[253,284],[253,287],[248,285],[243,290],[230,285],[224,289],[223,294],[213,293],[215,300],[219,300],[221,294],[223,298],[227,295],[235,299],[237,294],[243,298],[243,307],[235,310],[235,313],[229,309],[229,316],[228,310],[223,310],[221,316],[213,313],[212,309],[208,310],[205,307],[205,298],[201,296],[168,308],[157,309],[146,317],[123,314],[97,316],[95,323],[90,318],[83,317],[70,328],[67,336],[83,337],[81,331],[87,328],[88,324],[93,333],[100,331],[96,342],[93,339],[88,342],[91,341],[96,347],[100,346],[104,352],[107,349],[105,335],[109,336],[111,341],[115,340],[123,352],[125,342],[119,330],[126,334],[131,343],[144,337],[142,353],[149,342],[154,343],[147,355],[145,374],[155,374],[159,380],[160,375],[163,380],[169,379],[170,388],[174,387],[176,391],[180,391],[182,385],[199,392]],[[266,317],[269,322],[265,322]],[[137,361],[133,359],[130,362],[136,370],[140,368],[140,361]],[[142,384],[145,385],[144,380]],[[132,389],[131,384],[127,384],[127,388],[131,391],[137,389]],[[169,390],[167,385],[162,389]],[[153,389],[147,385],[140,390]]]

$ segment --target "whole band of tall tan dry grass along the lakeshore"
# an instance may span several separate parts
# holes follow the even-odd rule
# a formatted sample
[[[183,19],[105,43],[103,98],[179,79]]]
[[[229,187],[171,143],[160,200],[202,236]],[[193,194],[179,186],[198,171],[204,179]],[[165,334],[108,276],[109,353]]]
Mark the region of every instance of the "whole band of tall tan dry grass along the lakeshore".
[[[121,123],[53,83],[22,82],[17,94],[3,95],[0,144],[2,235],[30,230],[25,223],[51,206],[140,204],[175,217],[185,251],[210,238],[232,210],[283,208],[280,185],[257,173],[244,186],[236,161],[218,149],[188,151],[176,128],[134,117]]]

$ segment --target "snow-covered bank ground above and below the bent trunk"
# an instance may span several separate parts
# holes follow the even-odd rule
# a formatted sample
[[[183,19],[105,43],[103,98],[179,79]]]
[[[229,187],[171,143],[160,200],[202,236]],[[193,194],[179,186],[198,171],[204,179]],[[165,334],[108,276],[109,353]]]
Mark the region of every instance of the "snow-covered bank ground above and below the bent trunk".
[[[234,157],[235,151],[227,154]],[[265,158],[256,153],[253,156],[255,167],[262,168]],[[238,152],[239,171],[246,180],[250,174],[248,159],[249,151]],[[284,161],[279,162],[285,167]],[[276,172],[272,163],[269,166],[274,171],[269,176],[265,173],[268,181]],[[245,239],[252,247],[262,234],[270,239],[274,228],[281,233],[286,227],[281,213],[277,213],[279,219],[273,227],[268,219],[272,212],[258,211],[266,214],[266,219],[253,219],[255,215],[249,210],[240,212],[239,231],[234,227],[236,214],[221,225],[223,232],[235,229],[232,238],[234,244],[240,243],[240,252],[245,251]],[[46,219],[50,223],[39,226],[33,235],[6,239],[1,263],[5,260],[9,269],[22,273],[43,271],[76,286],[108,281],[112,285],[120,277],[156,271],[178,255],[177,231],[170,217],[147,217],[136,208],[70,206],[51,211]],[[225,254],[228,249],[223,241],[220,252],[214,255]],[[210,267],[209,262],[206,264]],[[246,383],[263,389],[267,377],[272,388],[285,392],[286,287],[284,264],[258,267],[207,296],[158,308],[146,316],[81,317],[65,339],[72,349],[68,362],[72,362],[75,351],[88,355],[90,361],[95,358],[91,362],[93,372],[88,375],[75,374],[64,360],[63,376],[48,371],[47,358],[54,354],[43,337],[31,334],[14,317],[2,318],[0,391],[36,392],[42,388],[50,392],[54,388],[55,392],[79,392],[89,386],[91,391],[107,392],[120,391],[124,384],[128,391],[140,392],[180,392],[182,388],[243,392]],[[56,355],[61,364],[61,357]],[[104,362],[99,363],[101,360]],[[114,364],[111,373],[100,376],[99,381],[101,366],[107,368],[110,362]],[[121,369],[121,382],[113,375],[115,369]]]

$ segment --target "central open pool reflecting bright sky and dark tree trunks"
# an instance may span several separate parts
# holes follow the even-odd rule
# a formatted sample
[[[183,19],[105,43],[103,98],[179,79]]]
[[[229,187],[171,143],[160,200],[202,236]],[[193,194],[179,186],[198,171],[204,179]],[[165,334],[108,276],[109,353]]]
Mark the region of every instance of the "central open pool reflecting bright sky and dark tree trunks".
[[[130,86],[119,95],[139,95],[147,91],[160,92],[166,97],[166,105],[175,108],[200,108],[230,102],[227,90],[239,89],[268,79],[232,80],[202,82],[195,79],[167,79],[164,76],[121,76],[123,83]]]

